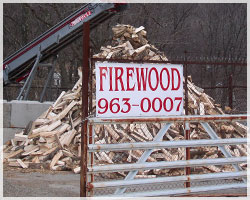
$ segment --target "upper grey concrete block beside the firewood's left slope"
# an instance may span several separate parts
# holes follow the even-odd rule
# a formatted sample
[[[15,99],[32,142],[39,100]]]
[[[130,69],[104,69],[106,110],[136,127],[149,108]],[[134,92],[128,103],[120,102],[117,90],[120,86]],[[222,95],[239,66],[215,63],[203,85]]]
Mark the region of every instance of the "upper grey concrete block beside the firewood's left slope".
[[[25,128],[32,120],[37,119],[45,112],[52,102],[40,103],[38,101],[11,101],[11,128]]]

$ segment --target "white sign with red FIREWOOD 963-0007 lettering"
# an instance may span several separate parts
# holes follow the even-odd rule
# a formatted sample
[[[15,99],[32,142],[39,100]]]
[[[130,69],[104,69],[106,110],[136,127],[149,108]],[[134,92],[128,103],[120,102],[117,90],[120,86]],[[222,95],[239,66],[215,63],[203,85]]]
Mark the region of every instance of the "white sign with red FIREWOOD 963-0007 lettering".
[[[183,66],[96,62],[96,117],[181,115]]]

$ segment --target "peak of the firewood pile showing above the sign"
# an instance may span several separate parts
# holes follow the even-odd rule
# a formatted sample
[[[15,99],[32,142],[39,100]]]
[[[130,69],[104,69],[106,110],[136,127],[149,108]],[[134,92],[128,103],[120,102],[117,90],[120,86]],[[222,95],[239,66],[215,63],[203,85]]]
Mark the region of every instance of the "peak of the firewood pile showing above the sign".
[[[94,55],[94,58],[168,60],[154,45],[148,44],[147,32],[143,26],[135,28],[130,25],[117,25],[112,30],[113,46],[101,47],[101,52]]]

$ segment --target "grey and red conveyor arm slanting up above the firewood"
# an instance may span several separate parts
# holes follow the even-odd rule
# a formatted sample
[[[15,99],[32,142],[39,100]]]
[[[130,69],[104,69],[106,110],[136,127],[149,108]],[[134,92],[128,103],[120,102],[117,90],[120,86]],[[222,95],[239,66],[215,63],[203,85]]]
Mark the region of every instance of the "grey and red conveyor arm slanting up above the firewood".
[[[110,12],[122,6],[116,3],[88,3],[61,22],[26,44],[24,47],[7,57],[3,62],[3,83],[7,85],[20,77],[28,74],[32,69],[30,64],[34,62],[38,52],[42,53],[41,61],[53,56],[59,50],[76,40],[82,35],[82,26],[85,22],[91,22],[94,28],[115,14]],[[88,12],[91,12],[89,15]],[[71,22],[87,13],[87,17],[71,26]]]

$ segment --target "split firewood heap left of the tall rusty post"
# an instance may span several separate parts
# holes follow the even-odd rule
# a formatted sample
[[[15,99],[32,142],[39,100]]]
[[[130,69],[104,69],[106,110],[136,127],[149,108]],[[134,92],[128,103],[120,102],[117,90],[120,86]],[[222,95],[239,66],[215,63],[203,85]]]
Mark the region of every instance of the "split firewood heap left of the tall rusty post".
[[[79,165],[81,83],[58,99],[38,119],[5,144],[4,161],[23,168],[74,169]],[[9,153],[7,153],[9,152]]]

